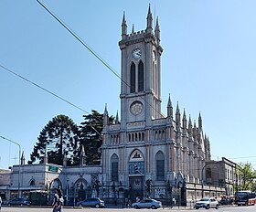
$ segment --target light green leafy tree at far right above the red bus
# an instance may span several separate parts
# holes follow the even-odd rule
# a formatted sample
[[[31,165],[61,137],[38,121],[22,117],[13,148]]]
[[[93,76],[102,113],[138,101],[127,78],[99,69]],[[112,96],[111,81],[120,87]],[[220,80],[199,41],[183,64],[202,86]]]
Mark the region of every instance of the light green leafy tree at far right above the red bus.
[[[239,190],[254,190],[253,182],[256,179],[256,172],[251,163],[240,163],[238,167],[237,175],[239,178]]]

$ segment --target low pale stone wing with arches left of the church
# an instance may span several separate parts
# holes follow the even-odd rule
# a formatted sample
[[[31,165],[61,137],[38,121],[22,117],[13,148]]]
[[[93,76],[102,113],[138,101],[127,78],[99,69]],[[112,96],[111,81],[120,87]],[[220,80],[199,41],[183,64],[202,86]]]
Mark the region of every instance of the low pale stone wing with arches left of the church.
[[[22,164],[0,174],[0,194],[8,200],[38,193],[37,197],[32,197],[32,204],[48,205],[55,189],[60,187],[66,204],[73,205],[79,199],[99,196],[100,182],[101,165]]]

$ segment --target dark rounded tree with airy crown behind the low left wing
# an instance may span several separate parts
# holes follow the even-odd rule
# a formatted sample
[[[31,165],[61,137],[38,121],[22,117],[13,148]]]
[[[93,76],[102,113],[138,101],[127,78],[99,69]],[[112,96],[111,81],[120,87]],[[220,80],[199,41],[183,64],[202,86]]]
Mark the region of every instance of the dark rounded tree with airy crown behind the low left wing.
[[[39,160],[43,163],[44,155],[48,153],[48,163],[63,164],[64,154],[67,164],[78,164],[79,128],[65,115],[58,115],[44,127],[37,138],[28,164]]]

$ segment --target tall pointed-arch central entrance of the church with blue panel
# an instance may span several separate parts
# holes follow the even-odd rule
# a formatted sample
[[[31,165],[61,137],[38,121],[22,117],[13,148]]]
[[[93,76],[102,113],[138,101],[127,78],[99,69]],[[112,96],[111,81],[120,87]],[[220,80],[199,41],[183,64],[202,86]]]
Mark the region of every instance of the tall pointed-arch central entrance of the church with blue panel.
[[[139,150],[129,158],[129,198],[135,202],[136,197],[144,197],[144,155]]]

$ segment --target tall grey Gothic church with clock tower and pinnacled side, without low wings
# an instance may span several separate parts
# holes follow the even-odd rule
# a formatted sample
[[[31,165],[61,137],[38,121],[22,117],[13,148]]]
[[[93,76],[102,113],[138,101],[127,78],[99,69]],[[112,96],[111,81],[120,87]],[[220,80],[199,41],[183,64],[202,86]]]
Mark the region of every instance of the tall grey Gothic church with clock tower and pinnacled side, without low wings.
[[[158,17],[153,28],[149,6],[146,28],[127,33],[123,14],[121,49],[121,120],[109,123],[104,111],[102,183],[122,185],[135,196],[176,196],[186,202],[197,196],[203,168],[211,160],[202,118],[192,124],[186,111],[174,110],[169,97],[161,112],[161,56]],[[203,170],[203,171],[201,171]],[[188,184],[193,190],[187,194]],[[194,185],[195,184],[195,185]],[[200,187],[201,188],[201,187]]]

